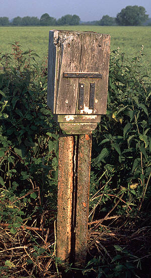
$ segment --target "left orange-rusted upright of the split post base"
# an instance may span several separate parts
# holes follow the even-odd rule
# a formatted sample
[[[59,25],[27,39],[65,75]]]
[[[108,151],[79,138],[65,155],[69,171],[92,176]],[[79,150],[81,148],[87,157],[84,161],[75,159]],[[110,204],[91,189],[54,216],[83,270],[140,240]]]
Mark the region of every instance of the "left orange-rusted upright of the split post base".
[[[71,252],[71,214],[74,136],[59,138],[56,256],[68,261]]]

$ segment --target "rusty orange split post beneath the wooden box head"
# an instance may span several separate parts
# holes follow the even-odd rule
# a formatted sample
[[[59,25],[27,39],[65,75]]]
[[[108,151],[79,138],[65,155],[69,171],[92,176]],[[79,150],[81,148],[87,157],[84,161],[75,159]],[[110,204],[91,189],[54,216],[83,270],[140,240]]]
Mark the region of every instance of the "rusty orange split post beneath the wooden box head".
[[[87,253],[92,134],[59,138],[56,256],[83,265]]]

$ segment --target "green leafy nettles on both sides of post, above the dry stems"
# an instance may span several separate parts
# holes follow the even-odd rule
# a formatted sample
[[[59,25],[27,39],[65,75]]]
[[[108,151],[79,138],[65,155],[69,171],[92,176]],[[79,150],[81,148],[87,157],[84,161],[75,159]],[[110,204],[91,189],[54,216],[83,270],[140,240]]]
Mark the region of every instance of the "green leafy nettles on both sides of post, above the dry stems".
[[[59,130],[46,105],[47,57],[36,58],[15,42],[0,60],[1,220],[14,233],[48,206],[49,219],[56,214]],[[132,59],[111,52],[107,115],[93,132],[92,218],[97,205],[104,213],[113,199],[117,214],[137,215],[150,196],[151,93],[141,59],[143,49]]]

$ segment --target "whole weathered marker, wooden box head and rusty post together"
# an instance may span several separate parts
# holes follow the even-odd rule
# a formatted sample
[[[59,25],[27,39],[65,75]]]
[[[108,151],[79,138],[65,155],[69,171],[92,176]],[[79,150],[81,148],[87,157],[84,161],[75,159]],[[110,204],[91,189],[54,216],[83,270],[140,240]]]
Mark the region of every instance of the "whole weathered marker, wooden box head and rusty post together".
[[[60,128],[57,257],[83,264],[87,253],[92,130],[106,113],[110,36],[51,30],[48,99]]]

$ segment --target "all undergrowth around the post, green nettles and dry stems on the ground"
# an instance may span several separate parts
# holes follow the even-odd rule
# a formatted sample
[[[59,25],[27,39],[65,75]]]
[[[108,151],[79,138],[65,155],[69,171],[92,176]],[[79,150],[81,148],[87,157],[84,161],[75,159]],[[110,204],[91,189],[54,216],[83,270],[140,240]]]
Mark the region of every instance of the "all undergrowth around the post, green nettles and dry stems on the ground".
[[[93,132],[89,244],[69,277],[149,277],[150,84],[143,46],[110,58],[107,114]],[[55,257],[59,129],[46,105],[47,57],[1,53],[1,277],[61,277]],[[145,267],[146,266],[146,267]],[[80,276],[79,276],[80,277]]]

